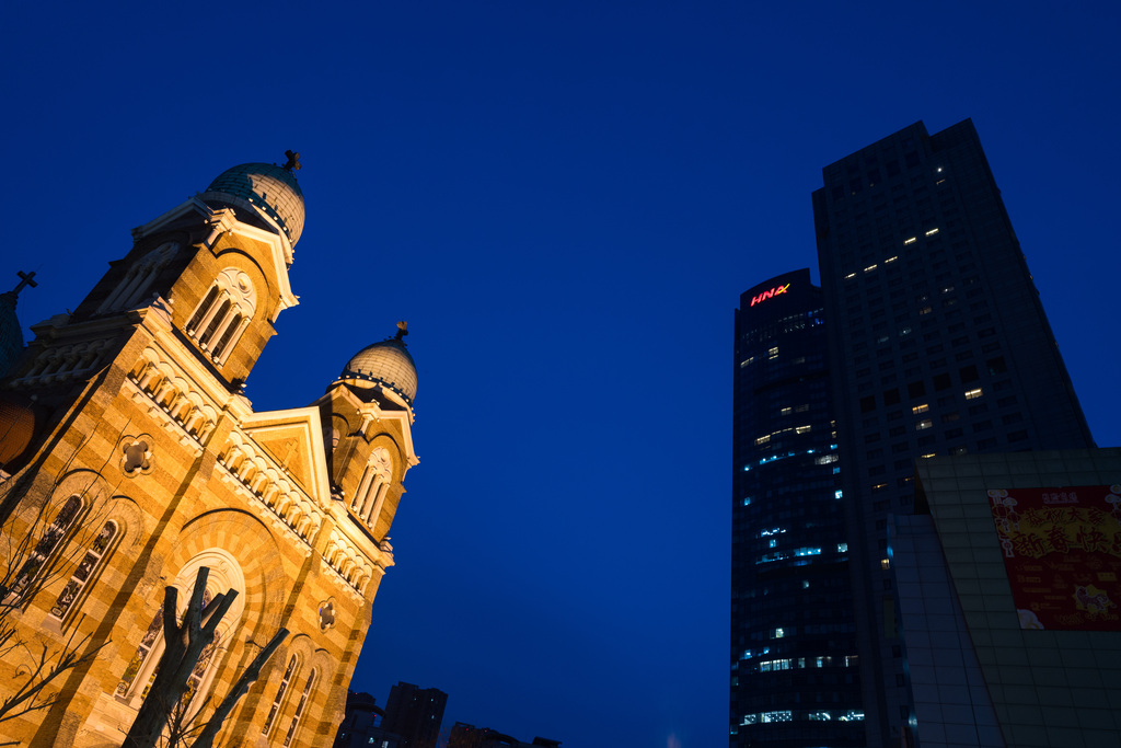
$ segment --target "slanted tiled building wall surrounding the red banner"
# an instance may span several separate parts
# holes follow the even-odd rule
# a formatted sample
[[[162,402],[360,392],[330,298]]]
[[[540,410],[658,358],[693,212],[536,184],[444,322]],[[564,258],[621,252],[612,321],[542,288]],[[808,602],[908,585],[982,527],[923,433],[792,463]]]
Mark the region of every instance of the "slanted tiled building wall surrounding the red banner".
[[[1121,744],[1121,631],[1021,629],[986,497],[1121,482],[1121,449],[924,460],[918,474],[1008,745]]]

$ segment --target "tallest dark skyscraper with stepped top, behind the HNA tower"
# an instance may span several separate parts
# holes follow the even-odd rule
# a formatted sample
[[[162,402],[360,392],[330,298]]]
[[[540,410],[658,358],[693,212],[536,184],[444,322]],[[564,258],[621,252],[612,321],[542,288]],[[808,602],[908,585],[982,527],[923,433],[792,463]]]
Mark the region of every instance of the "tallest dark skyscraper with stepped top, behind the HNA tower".
[[[912,124],[814,193],[869,746],[911,714],[888,516],[915,460],[1093,446],[970,120]]]

